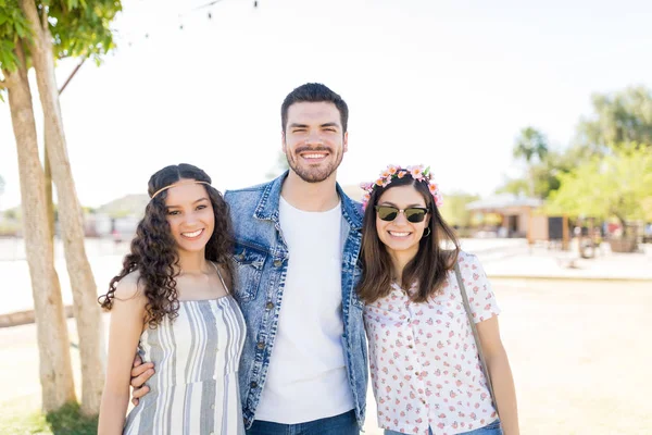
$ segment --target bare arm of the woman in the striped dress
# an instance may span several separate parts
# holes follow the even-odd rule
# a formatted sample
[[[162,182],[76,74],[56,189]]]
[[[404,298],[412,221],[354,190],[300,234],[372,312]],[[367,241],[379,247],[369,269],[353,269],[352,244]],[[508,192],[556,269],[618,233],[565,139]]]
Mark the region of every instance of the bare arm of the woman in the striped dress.
[[[106,380],[100,405],[99,435],[121,435],[129,402],[134,355],[142,333],[146,298],[130,274],[117,285],[111,309]]]

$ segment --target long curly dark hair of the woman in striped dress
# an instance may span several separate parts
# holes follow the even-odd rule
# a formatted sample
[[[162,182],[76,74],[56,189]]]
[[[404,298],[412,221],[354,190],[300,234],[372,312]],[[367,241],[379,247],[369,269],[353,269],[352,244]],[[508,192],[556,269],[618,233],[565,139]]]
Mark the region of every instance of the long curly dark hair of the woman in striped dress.
[[[150,177],[148,194],[151,198],[159,189],[181,178],[209,183],[202,186],[213,206],[215,228],[205,247],[205,259],[218,263],[226,271],[225,279],[230,287],[230,253],[234,245],[231,222],[228,204],[222,194],[210,186],[211,177],[199,167],[187,163],[165,166]],[[109,291],[98,298],[103,309],[111,310],[117,283],[129,273],[138,271],[138,285],[142,285],[148,299],[146,312],[150,327],[156,327],[165,315],[174,320],[179,309],[175,279],[178,276],[178,268],[175,266],[178,266],[179,257],[166,219],[166,197],[167,190],[163,190],[150,199],[131,240],[130,251],[123,260],[122,271],[111,279]]]

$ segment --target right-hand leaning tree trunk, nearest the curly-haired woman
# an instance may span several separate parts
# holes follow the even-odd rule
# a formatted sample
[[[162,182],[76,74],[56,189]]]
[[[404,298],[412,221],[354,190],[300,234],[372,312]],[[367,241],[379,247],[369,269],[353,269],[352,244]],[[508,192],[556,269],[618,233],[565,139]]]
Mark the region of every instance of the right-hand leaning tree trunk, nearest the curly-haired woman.
[[[98,414],[104,386],[104,343],[98,290],[86,257],[82,207],[67,157],[63,132],[59,90],[54,76],[52,36],[47,24],[47,11],[39,12],[34,0],[21,0],[21,9],[34,32],[32,61],[43,109],[45,137],[52,178],[59,199],[59,222],[65,250],[65,262],[73,289],[74,313],[79,335],[82,360],[82,412]]]

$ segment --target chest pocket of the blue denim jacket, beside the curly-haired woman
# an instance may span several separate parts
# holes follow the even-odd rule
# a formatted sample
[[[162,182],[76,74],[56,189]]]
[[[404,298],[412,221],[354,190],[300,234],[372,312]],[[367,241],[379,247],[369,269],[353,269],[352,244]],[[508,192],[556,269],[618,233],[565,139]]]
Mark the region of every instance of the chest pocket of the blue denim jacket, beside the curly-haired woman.
[[[236,244],[234,251],[235,263],[235,296],[239,300],[255,298],[263,275],[263,266],[267,252],[250,245]]]

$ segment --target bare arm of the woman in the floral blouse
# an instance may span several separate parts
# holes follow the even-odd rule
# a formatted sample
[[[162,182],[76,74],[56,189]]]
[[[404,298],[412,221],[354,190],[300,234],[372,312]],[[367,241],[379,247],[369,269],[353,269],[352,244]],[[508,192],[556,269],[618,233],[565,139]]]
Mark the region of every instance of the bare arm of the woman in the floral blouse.
[[[491,376],[498,413],[505,435],[518,435],[518,410],[516,407],[516,391],[512,369],[507,360],[507,352],[500,339],[498,316],[491,316],[476,324],[480,338],[480,346],[487,362],[487,370]]]

